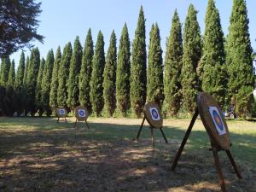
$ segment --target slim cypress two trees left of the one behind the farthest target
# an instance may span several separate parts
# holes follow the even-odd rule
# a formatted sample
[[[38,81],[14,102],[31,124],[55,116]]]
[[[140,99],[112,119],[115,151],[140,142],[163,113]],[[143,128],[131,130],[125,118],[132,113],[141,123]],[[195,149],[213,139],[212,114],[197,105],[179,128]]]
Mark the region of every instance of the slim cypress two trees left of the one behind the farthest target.
[[[42,95],[41,95],[41,102],[43,105],[44,113],[49,117],[52,113],[51,108],[49,107],[49,91],[50,91],[50,82],[51,82],[51,75],[52,69],[55,62],[55,55],[52,49],[49,50],[45,66],[44,66],[44,74],[42,79]]]

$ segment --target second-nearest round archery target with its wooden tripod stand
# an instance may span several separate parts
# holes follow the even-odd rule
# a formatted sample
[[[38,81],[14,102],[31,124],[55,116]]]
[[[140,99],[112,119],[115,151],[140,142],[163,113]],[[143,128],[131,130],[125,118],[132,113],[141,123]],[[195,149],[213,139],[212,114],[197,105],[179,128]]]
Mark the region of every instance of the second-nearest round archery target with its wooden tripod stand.
[[[144,113],[143,122],[142,122],[142,125],[140,126],[139,131],[137,132],[136,140],[139,139],[141,131],[143,130],[144,121],[145,119],[147,119],[148,124],[150,125],[151,143],[154,144],[154,129],[160,129],[162,136],[164,137],[166,143],[168,143],[165,133],[162,129],[163,118],[160,113],[159,106],[154,102],[148,102],[143,108],[143,113]]]

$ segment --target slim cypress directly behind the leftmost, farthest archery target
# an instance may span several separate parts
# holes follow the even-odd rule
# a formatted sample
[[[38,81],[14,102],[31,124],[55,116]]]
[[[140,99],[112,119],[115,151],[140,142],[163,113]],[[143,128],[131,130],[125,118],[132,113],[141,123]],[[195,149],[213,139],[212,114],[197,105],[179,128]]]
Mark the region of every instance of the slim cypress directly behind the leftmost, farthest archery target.
[[[59,106],[67,107],[67,80],[69,75],[70,60],[72,56],[72,45],[67,43],[63,49],[61,65],[58,73],[57,102]]]

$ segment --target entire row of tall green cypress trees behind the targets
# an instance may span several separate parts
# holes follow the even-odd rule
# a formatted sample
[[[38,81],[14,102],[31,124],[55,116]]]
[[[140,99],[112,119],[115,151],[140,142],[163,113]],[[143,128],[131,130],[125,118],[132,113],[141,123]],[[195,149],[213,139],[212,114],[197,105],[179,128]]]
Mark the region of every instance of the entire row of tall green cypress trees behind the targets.
[[[157,23],[150,30],[147,62],[143,7],[132,51],[125,24],[119,49],[112,32],[106,58],[102,32],[94,48],[90,29],[84,49],[77,37],[73,47],[70,42],[66,44],[62,55],[60,47],[55,56],[49,50],[46,61],[40,60],[38,49],[32,49],[26,61],[22,53],[16,77],[15,62],[2,58],[1,113],[49,116],[57,106],[72,109],[80,104],[96,116],[103,109],[108,116],[115,111],[125,116],[131,108],[139,117],[147,101],[157,102],[167,115],[175,117],[181,109],[193,113],[196,96],[204,90],[223,108],[234,106],[236,113],[245,116],[252,106],[254,83],[246,3],[233,1],[226,39],[213,0],[207,5],[203,37],[196,14],[191,4],[182,33],[175,10],[164,62]]]

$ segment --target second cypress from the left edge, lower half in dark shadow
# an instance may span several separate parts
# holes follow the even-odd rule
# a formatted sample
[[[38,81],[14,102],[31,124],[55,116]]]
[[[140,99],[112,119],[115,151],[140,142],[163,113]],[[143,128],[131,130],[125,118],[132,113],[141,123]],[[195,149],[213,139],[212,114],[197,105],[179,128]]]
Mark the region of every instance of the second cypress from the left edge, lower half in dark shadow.
[[[6,94],[4,97],[5,113],[8,116],[13,116],[15,113],[15,61],[11,62],[9,68],[8,81],[6,83]]]

